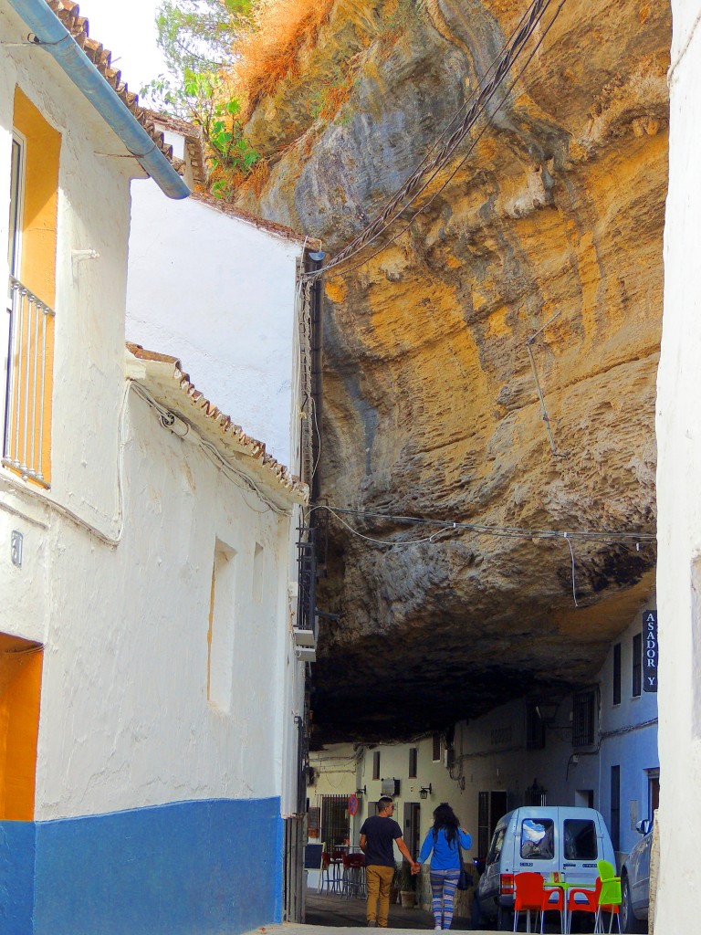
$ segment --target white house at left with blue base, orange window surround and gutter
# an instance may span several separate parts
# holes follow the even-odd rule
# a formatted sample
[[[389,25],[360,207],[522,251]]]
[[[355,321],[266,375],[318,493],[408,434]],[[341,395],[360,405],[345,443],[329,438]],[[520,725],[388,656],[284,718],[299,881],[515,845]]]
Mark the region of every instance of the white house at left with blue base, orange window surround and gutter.
[[[125,345],[131,182],[189,193],[78,6],[0,0],[0,42],[2,930],[255,928],[296,812],[308,489]]]

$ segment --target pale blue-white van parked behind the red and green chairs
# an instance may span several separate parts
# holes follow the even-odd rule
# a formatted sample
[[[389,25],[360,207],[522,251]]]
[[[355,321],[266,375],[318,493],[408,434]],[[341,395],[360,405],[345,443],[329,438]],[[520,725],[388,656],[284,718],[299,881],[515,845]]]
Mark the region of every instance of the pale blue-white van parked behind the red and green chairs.
[[[513,928],[516,873],[559,873],[566,883],[594,884],[597,860],[616,865],[600,813],[566,805],[523,806],[500,818],[477,887],[479,913],[496,918],[499,931]]]

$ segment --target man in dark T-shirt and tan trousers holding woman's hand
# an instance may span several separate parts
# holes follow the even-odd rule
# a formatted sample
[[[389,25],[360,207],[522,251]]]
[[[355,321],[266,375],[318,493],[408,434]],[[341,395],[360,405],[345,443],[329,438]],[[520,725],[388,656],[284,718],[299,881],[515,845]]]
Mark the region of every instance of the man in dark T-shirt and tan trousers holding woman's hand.
[[[393,820],[393,813],[393,800],[389,796],[382,796],[378,802],[378,813],[366,818],[360,829],[360,849],[365,854],[367,883],[365,915],[367,925],[371,927],[387,928],[390,884],[394,875],[394,841],[402,856],[411,864],[412,872],[420,869],[408,852],[402,829]]]

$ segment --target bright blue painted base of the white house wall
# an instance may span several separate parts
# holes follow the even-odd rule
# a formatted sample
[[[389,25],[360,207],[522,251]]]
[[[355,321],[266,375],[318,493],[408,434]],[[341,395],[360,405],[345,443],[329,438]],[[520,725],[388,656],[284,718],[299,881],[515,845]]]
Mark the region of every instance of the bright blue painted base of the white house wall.
[[[279,798],[0,822],[3,935],[238,935],[280,921]]]

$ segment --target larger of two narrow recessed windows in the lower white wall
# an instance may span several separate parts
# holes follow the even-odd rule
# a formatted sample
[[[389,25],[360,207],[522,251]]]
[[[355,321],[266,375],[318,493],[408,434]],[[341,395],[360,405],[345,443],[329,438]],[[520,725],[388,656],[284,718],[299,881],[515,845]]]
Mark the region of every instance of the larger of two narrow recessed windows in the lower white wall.
[[[216,541],[207,629],[207,701],[231,708],[236,551]]]

